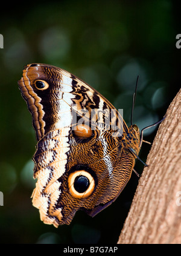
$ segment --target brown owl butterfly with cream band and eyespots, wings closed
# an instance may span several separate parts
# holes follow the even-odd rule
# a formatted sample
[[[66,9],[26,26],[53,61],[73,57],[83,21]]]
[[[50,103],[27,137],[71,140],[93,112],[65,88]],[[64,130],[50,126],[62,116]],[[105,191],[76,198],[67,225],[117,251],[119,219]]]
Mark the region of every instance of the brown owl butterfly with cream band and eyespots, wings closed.
[[[79,209],[94,216],[130,179],[141,147],[138,126],[71,73],[28,64],[19,80],[36,131],[33,206],[46,224],[69,225]]]

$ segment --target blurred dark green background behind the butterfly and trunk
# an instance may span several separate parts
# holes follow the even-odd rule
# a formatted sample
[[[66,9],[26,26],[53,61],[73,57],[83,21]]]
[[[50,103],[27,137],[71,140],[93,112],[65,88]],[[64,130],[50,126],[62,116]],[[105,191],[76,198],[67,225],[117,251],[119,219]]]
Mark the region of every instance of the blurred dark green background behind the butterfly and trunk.
[[[124,109],[130,125],[132,95],[140,76],[134,122],[162,119],[180,88],[181,33],[176,1],[27,1],[1,5],[0,243],[116,243],[138,185],[133,173],[112,206],[96,217],[77,212],[71,225],[40,222],[31,204],[36,139],[17,86],[24,65],[56,65],[77,75]],[[153,141],[156,130],[145,136]],[[146,161],[150,146],[140,153]],[[143,165],[136,163],[141,173]],[[165,170],[167,171],[167,170]]]

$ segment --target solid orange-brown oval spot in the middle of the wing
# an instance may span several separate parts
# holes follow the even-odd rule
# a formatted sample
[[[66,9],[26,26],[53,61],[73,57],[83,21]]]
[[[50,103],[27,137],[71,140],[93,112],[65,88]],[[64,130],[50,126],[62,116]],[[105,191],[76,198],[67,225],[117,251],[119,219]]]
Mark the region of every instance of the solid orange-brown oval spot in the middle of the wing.
[[[92,130],[89,125],[84,123],[78,123],[77,125],[72,126],[75,136],[80,138],[90,138],[92,136]]]

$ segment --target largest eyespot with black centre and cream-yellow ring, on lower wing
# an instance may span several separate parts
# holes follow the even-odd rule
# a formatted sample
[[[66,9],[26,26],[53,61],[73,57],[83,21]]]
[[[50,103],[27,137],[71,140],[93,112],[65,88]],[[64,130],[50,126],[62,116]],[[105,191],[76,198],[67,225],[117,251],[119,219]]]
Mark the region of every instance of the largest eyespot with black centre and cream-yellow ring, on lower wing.
[[[69,175],[68,186],[69,192],[76,199],[86,198],[94,191],[95,180],[89,172],[79,170]]]

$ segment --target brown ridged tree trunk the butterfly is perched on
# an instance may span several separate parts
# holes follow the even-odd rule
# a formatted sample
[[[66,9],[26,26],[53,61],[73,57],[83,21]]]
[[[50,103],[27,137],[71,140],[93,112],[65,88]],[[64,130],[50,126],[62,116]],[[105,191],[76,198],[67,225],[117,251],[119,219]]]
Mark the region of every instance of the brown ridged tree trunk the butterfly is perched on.
[[[181,90],[148,155],[118,243],[181,243]]]

